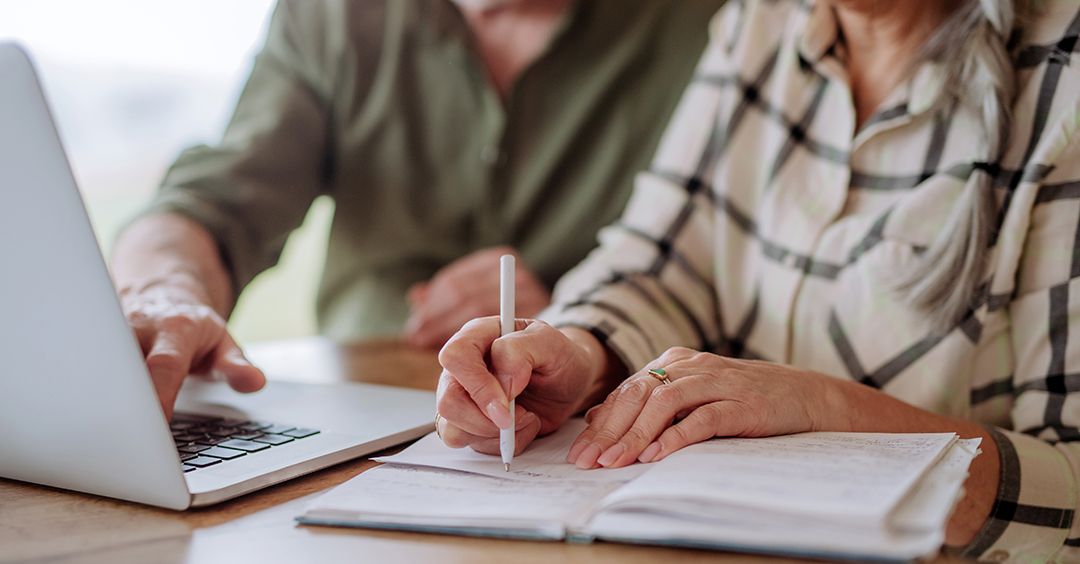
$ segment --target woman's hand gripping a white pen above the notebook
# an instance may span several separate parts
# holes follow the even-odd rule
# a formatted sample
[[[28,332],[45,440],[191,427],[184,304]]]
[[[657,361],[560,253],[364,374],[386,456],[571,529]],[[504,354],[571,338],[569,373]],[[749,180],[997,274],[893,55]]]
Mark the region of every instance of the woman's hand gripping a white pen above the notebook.
[[[475,319],[438,353],[438,434],[448,446],[499,454],[499,429],[510,425],[507,382],[516,398],[515,454],[603,397],[605,355],[595,337],[532,320],[515,328],[500,337],[498,317]]]

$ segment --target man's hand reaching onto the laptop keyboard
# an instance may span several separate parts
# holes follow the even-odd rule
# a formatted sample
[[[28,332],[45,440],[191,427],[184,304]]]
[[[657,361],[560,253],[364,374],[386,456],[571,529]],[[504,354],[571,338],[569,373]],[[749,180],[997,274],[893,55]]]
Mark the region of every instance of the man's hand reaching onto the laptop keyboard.
[[[242,392],[266,384],[262,372],[244,358],[226,331],[225,320],[181,284],[123,288],[120,299],[167,418],[188,374],[225,378]]]

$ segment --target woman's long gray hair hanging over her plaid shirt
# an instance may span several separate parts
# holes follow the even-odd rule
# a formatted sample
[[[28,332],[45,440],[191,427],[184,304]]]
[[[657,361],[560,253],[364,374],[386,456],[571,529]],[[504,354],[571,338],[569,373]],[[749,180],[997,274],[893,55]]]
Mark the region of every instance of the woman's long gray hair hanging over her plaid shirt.
[[[1016,96],[1009,39],[1028,10],[1028,0],[964,0],[916,57],[943,66],[939,111],[958,104],[982,118],[990,163],[1004,151]],[[954,327],[971,310],[986,269],[998,201],[990,174],[973,174],[950,215],[951,227],[897,282],[905,301],[924,311],[937,331]]]

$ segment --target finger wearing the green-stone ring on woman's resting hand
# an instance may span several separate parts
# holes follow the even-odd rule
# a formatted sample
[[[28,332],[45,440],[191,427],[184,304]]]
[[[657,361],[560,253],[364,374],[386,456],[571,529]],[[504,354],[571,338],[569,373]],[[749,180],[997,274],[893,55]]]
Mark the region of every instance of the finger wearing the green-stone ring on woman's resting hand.
[[[573,465],[578,468],[596,468],[600,455],[619,442],[637,420],[642,408],[652,394],[653,388],[660,382],[649,376],[633,376],[626,379],[605,401],[609,406],[602,411],[603,417],[597,417],[586,429],[582,438],[590,444],[580,449]],[[586,433],[592,431],[591,437]]]

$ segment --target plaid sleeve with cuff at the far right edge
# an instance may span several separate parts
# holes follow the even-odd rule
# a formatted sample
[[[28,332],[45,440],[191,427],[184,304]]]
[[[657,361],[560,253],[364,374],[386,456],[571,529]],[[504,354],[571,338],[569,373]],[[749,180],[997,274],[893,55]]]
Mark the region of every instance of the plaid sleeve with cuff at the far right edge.
[[[1072,120],[1080,123],[1080,108]],[[990,518],[967,554],[988,561],[1080,561],[1080,136],[1048,139],[1047,180],[1017,190],[1030,209],[1009,306],[1012,430],[991,429],[1001,474]],[[1056,147],[1055,147],[1056,146]],[[1040,151],[1041,152],[1041,151]]]

